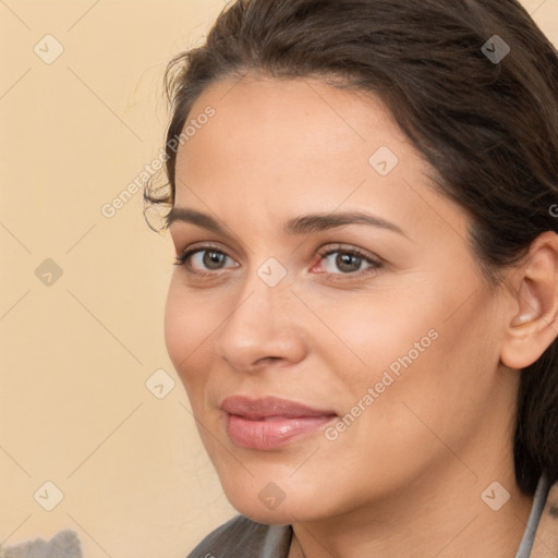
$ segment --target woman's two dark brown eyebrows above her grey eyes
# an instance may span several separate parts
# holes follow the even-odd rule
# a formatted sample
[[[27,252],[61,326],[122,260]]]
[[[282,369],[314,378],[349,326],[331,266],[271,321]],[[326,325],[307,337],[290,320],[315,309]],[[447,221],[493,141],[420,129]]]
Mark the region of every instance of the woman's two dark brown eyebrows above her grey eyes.
[[[170,227],[170,225],[173,222],[180,221],[195,225],[196,227],[206,229],[216,234],[227,234],[226,229],[209,215],[184,207],[173,207],[168,214],[166,221],[167,227]],[[283,227],[283,232],[289,235],[308,234],[312,232],[325,231],[348,225],[368,225],[379,229],[397,232],[398,234],[409,239],[403,229],[398,227],[396,223],[387,221],[381,217],[362,211],[345,211],[335,214],[324,213],[295,217],[287,221]]]

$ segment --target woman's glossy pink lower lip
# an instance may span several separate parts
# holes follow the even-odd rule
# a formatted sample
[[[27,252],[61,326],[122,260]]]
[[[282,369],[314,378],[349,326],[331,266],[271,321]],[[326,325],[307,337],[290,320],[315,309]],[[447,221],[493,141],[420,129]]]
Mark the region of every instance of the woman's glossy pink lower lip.
[[[312,434],[335,418],[337,415],[298,418],[278,416],[251,421],[244,416],[227,413],[227,432],[235,444],[244,448],[274,449]]]

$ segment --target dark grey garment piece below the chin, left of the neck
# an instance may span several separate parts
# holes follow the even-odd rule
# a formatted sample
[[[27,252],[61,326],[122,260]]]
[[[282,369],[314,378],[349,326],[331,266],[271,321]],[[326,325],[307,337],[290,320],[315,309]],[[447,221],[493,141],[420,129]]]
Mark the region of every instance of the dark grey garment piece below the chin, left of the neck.
[[[290,525],[265,525],[235,515],[206,535],[187,558],[287,558]]]

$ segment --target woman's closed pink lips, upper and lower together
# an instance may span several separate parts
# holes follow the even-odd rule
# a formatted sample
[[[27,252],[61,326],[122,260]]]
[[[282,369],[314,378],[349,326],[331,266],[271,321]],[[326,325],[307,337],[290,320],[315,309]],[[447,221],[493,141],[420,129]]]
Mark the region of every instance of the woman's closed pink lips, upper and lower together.
[[[227,412],[230,438],[239,446],[262,450],[284,446],[337,416],[331,410],[311,409],[276,397],[228,397],[221,409]]]

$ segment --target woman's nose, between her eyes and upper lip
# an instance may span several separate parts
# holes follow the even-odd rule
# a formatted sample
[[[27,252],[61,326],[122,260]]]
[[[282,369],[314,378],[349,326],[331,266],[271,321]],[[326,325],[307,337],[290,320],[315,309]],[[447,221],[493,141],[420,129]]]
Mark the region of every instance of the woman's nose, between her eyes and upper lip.
[[[268,287],[247,282],[232,313],[219,328],[215,350],[232,368],[257,372],[302,361],[307,338],[300,303],[286,280]]]

